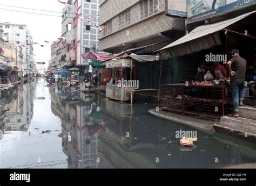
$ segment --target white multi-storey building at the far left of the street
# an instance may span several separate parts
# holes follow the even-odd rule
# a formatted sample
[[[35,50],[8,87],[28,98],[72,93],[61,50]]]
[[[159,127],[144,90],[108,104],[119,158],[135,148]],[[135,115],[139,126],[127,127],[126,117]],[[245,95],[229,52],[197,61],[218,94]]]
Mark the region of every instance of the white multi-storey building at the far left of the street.
[[[17,53],[16,66],[18,69],[30,73],[35,69],[35,59],[33,57],[33,40],[28,26],[5,22],[0,23],[0,28],[4,31],[4,41],[15,45],[13,50]]]

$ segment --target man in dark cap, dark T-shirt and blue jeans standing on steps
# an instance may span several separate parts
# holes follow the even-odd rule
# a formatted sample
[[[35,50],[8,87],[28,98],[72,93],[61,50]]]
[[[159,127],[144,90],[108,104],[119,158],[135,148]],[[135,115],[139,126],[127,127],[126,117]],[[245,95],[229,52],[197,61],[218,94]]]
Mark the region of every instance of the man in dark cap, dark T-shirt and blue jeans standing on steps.
[[[233,96],[234,117],[239,117],[239,105],[244,106],[246,60],[241,58],[238,49],[231,52],[232,59],[227,62],[231,75],[230,89]]]

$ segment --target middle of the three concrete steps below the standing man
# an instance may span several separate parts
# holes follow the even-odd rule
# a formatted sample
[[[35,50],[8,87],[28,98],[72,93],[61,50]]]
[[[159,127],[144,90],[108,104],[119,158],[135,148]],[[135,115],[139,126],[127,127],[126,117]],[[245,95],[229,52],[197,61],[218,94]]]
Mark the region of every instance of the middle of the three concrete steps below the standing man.
[[[234,118],[230,116],[221,117],[221,123],[231,126],[246,128],[249,130],[256,130],[256,120],[247,118]]]

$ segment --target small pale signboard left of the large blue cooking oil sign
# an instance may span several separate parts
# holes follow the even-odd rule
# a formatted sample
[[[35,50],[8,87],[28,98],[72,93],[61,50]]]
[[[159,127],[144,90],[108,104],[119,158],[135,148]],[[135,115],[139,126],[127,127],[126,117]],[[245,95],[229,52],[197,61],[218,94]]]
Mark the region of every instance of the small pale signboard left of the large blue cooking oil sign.
[[[165,0],[165,14],[187,17],[187,0]]]

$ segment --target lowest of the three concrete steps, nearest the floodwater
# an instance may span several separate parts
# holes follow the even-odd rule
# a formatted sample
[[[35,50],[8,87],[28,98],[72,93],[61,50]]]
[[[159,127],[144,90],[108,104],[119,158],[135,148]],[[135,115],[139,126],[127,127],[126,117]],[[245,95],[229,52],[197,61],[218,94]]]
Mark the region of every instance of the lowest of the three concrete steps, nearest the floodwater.
[[[218,123],[213,125],[214,131],[231,135],[242,140],[256,142],[256,130],[250,130],[239,126]]]

